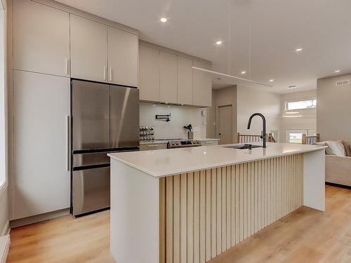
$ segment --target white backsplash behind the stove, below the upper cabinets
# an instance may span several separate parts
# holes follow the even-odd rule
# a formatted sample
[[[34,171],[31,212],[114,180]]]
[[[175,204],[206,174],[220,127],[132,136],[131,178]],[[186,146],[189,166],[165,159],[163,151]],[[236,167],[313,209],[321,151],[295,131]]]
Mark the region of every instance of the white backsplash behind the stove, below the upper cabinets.
[[[201,111],[206,109],[140,102],[140,126],[154,126],[156,139],[186,138],[183,126],[191,123],[194,139],[206,138],[206,116]],[[171,121],[157,120],[156,114],[171,114]]]

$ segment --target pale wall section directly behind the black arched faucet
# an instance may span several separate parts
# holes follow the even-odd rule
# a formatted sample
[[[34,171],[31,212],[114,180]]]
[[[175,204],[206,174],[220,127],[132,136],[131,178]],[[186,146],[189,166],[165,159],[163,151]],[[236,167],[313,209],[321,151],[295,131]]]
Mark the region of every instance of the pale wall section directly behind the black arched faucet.
[[[262,120],[255,117],[251,122],[251,129],[247,130],[247,123],[251,114],[260,112],[266,118],[267,132],[280,130],[280,95],[244,86],[237,87],[237,131],[238,133],[260,135]],[[279,140],[282,137],[278,135]]]

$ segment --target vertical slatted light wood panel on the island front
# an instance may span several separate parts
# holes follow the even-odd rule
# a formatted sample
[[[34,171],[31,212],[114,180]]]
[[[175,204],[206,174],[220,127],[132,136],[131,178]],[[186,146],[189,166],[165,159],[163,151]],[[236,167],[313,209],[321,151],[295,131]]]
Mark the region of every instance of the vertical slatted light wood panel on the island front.
[[[159,262],[199,263],[303,205],[303,154],[159,179]]]

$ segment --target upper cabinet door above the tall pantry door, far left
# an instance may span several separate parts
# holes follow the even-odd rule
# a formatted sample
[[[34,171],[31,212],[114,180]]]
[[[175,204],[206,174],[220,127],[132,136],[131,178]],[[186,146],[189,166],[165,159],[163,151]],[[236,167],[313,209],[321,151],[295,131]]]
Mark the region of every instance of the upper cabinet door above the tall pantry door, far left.
[[[69,76],[69,13],[13,1],[13,67]]]

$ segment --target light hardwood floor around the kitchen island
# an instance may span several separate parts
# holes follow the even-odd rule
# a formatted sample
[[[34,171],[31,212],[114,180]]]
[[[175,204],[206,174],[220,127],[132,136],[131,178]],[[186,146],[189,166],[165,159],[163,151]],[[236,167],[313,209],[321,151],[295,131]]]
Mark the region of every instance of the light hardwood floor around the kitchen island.
[[[114,262],[110,213],[11,230],[7,262]],[[326,186],[326,213],[300,208],[210,263],[351,262],[351,190]]]

